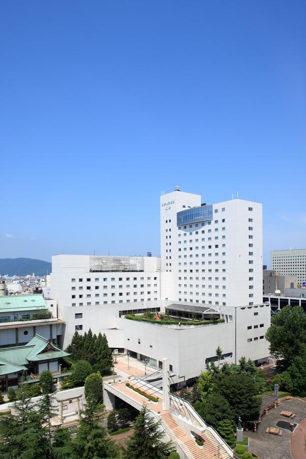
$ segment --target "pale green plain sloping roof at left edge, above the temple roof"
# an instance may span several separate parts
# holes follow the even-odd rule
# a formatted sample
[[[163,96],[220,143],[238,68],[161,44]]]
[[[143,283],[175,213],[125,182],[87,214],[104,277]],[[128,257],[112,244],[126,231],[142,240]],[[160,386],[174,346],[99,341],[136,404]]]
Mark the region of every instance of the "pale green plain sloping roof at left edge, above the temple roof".
[[[0,312],[32,311],[48,309],[42,295],[0,296]]]

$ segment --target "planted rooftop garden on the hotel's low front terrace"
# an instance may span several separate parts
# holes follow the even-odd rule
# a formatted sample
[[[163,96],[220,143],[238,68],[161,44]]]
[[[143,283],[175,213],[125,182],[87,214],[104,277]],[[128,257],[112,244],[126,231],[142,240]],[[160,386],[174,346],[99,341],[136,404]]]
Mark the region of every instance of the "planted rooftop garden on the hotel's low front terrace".
[[[139,322],[149,322],[160,325],[211,325],[217,323],[223,323],[224,319],[219,318],[210,318],[206,320],[188,320],[179,317],[171,317],[168,314],[155,314],[150,312],[145,312],[144,314],[126,314],[126,319],[137,320]]]

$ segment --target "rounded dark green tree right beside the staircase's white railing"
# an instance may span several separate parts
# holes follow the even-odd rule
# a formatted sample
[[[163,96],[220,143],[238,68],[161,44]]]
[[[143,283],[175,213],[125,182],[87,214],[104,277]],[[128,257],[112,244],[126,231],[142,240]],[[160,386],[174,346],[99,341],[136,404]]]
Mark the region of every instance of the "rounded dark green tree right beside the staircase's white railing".
[[[229,419],[233,424],[233,410],[223,395],[213,392],[207,397],[205,403],[197,401],[194,409],[205,422],[211,424],[215,429],[223,419]]]

